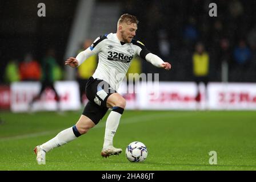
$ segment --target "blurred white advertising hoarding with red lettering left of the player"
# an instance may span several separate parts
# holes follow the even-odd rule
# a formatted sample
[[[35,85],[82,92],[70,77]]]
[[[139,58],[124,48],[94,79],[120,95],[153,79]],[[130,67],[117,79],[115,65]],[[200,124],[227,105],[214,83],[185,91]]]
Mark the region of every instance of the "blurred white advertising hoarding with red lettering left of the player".
[[[61,110],[80,109],[79,89],[75,81],[57,81],[55,89],[60,97]],[[11,84],[11,111],[29,111],[29,102],[37,96],[40,82],[14,82]],[[55,93],[51,89],[43,92],[41,99],[35,101],[31,110],[57,110]]]

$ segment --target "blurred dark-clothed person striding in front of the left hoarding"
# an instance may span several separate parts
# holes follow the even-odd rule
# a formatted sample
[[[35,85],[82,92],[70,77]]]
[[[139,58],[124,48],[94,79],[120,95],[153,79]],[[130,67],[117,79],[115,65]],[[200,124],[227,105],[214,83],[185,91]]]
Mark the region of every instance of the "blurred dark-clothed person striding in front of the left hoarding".
[[[54,70],[58,67],[57,61],[55,60],[55,51],[54,49],[48,49],[46,56],[43,58],[42,61],[42,78],[41,78],[41,90],[39,94],[33,97],[32,101],[30,102],[30,109],[33,106],[33,103],[39,100],[42,96],[42,93],[47,89],[50,88],[55,93],[55,100],[57,101],[57,109],[60,110],[60,98],[57,91],[54,88]]]

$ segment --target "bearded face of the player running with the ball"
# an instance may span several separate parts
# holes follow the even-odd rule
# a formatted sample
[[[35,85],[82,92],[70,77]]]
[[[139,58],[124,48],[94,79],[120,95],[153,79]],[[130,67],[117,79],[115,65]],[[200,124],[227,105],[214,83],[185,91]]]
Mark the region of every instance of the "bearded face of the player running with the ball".
[[[137,30],[136,23],[131,23],[131,24],[123,23],[122,31],[121,31],[123,42],[130,43],[131,40],[136,35],[136,30]]]

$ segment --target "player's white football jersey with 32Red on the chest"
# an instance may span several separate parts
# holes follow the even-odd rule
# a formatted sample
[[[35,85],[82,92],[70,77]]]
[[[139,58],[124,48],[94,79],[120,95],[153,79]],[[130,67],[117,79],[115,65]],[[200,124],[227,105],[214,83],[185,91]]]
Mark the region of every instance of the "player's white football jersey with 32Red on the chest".
[[[133,57],[139,55],[145,59],[150,53],[138,40],[133,39],[131,43],[120,42],[117,34],[106,34],[95,39],[90,47],[91,53],[98,53],[98,67],[93,74],[110,84],[117,90],[125,77]]]

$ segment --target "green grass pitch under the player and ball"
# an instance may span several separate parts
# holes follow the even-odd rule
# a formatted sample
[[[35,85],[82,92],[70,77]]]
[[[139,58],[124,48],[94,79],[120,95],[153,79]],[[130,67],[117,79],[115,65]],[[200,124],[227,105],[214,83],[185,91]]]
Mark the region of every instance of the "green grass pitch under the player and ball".
[[[73,126],[81,111],[63,115],[0,113],[0,170],[255,170],[255,111],[125,111],[114,146],[119,156],[101,157],[106,117],[77,140],[46,154],[38,165],[33,149]],[[133,141],[146,144],[149,155],[142,163],[126,159]],[[210,151],[217,164],[210,165]]]

